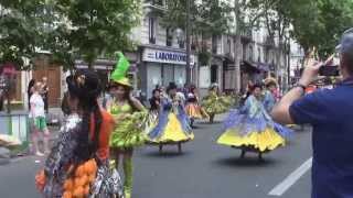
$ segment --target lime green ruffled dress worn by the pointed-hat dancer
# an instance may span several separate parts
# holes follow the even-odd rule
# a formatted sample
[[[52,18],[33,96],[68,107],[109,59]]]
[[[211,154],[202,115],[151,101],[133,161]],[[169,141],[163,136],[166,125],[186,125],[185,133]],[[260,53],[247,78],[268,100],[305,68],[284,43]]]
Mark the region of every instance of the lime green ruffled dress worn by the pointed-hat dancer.
[[[108,108],[108,112],[114,117],[124,117],[111,133],[109,140],[111,148],[125,150],[143,145],[147,138],[146,124],[148,113],[146,111],[133,111],[128,102],[124,105],[113,102]]]

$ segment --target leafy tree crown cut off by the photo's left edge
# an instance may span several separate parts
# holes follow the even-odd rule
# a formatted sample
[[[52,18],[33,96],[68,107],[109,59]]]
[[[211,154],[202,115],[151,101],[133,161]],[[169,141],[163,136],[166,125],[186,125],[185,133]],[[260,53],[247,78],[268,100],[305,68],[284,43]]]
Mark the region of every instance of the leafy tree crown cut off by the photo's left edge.
[[[0,2],[0,63],[12,63],[28,69],[23,59],[31,59],[42,45],[44,0],[2,0]]]

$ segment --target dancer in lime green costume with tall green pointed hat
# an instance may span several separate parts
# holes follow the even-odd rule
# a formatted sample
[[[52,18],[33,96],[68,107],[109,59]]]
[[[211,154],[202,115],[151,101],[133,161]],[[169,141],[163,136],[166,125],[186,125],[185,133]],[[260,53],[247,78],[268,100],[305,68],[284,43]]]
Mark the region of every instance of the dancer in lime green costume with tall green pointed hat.
[[[110,136],[109,145],[115,166],[118,169],[119,160],[124,165],[124,193],[125,198],[131,198],[132,193],[132,153],[133,147],[145,143],[145,121],[147,110],[131,96],[132,86],[127,78],[130,64],[122,53],[110,76],[110,92],[113,101],[107,105],[108,111],[114,116],[116,128]]]

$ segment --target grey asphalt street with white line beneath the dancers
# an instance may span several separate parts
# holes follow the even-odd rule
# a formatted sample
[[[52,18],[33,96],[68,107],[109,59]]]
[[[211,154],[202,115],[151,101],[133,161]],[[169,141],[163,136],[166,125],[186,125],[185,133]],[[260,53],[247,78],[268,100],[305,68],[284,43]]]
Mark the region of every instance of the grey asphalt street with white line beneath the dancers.
[[[259,163],[254,154],[239,160],[239,151],[215,144],[221,123],[196,125],[195,140],[183,145],[181,155],[176,146],[164,147],[162,155],[157,147],[136,151],[133,198],[276,197],[270,191],[284,198],[310,197],[310,169],[293,173],[311,157],[308,129]],[[23,157],[0,166],[1,197],[40,197],[34,186],[34,174],[41,167],[36,160]]]

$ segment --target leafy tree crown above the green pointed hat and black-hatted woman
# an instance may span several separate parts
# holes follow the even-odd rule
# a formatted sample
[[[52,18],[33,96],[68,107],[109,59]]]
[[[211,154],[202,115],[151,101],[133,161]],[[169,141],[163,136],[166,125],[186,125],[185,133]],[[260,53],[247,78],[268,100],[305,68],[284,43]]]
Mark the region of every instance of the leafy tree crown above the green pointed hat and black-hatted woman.
[[[131,29],[140,20],[140,0],[52,1],[55,25],[47,36],[54,61],[71,67],[82,57],[89,68],[100,56],[133,47]]]

